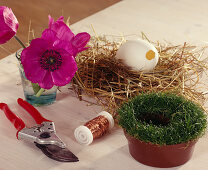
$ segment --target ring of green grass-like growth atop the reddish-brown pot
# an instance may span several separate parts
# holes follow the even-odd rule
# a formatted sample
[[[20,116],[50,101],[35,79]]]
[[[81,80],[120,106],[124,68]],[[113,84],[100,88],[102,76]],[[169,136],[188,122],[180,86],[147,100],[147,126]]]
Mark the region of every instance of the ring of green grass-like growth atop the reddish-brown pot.
[[[119,124],[129,135],[159,145],[197,139],[207,126],[199,105],[172,93],[141,94],[123,104],[118,113]]]

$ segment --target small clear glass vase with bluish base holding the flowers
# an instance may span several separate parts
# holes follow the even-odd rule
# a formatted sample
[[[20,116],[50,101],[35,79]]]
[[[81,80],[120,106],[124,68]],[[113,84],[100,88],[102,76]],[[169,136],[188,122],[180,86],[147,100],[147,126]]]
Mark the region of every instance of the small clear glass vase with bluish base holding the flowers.
[[[21,66],[19,66],[19,71],[21,75],[24,96],[28,103],[32,104],[33,106],[43,106],[50,105],[56,101],[57,86],[53,86],[49,90],[44,90],[44,92],[37,97],[36,94],[40,89],[38,84],[31,83],[31,81],[25,77],[24,70]]]

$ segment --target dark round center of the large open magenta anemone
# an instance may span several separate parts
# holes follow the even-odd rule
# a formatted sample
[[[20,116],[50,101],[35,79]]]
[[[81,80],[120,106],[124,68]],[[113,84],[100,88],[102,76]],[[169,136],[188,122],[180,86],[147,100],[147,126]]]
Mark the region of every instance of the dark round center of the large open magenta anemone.
[[[40,65],[45,70],[58,70],[61,64],[62,57],[59,52],[54,50],[46,50],[40,58]]]

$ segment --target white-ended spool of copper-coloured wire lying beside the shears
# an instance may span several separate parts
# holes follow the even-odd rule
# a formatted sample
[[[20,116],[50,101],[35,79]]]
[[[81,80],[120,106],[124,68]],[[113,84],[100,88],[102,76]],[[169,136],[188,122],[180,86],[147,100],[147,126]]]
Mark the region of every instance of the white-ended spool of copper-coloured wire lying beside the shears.
[[[100,138],[114,126],[114,119],[110,113],[102,111],[97,117],[79,126],[74,131],[76,140],[83,145],[89,145]]]

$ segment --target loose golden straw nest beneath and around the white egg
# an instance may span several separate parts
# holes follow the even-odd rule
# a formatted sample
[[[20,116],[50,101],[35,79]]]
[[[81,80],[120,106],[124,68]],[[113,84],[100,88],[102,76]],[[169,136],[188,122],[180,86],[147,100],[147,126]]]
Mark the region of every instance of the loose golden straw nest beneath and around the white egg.
[[[123,102],[142,92],[171,91],[203,104],[205,97],[197,86],[208,68],[201,60],[205,48],[151,42],[159,52],[159,62],[152,72],[143,73],[115,58],[123,42],[92,37],[91,48],[77,56],[78,71],[72,87],[80,100],[83,95],[93,97],[113,116]]]

